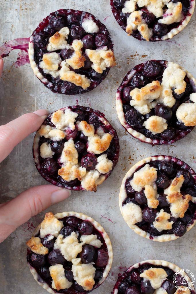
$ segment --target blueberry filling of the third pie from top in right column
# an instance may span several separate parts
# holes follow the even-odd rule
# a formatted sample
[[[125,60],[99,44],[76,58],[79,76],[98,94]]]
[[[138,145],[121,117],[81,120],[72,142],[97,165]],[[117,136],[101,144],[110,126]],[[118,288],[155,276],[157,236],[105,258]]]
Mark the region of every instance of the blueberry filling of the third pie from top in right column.
[[[144,194],[144,189],[141,192],[135,191],[130,185],[130,181],[133,176],[128,178],[125,182],[125,189],[127,192],[127,198],[123,201],[123,205],[126,203],[133,202],[139,205],[142,209],[142,221],[136,223],[140,229],[148,232],[150,234],[150,239],[163,234],[175,234],[176,236],[182,237],[187,231],[187,226],[192,225],[196,220],[196,203],[189,201],[189,208],[185,212],[183,218],[170,217],[169,221],[173,221],[171,230],[162,230],[159,232],[153,225],[155,221],[156,213],[163,209],[165,212],[170,213],[169,203],[166,201],[166,195],[164,194],[164,189],[170,185],[170,181],[175,177],[184,176],[184,183],[180,189],[182,195],[190,194],[191,196],[196,196],[196,176],[192,168],[188,166],[183,161],[177,158],[171,158],[171,160],[155,160],[148,163],[150,166],[157,168],[157,193],[159,194],[159,205],[156,209],[149,208],[147,205],[147,198]],[[140,170],[144,165],[136,169],[135,172]]]

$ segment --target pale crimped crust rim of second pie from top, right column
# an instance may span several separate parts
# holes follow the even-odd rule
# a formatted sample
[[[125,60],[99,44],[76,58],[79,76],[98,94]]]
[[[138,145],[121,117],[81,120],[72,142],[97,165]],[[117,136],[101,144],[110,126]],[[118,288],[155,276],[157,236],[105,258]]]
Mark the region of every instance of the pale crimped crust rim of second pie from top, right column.
[[[165,64],[169,64],[169,63],[173,63],[173,62],[170,62],[170,61],[165,61]],[[196,87],[196,79],[192,76],[192,74],[190,74],[186,69],[184,69],[182,66],[179,66],[180,69],[182,69],[183,71],[185,71],[187,77],[190,79],[190,81],[192,81],[191,85],[195,86]],[[133,77],[133,75],[136,73],[135,70],[131,70],[129,75],[128,75],[128,81],[127,83],[130,81],[130,79]],[[131,136],[133,136],[134,138],[137,138],[139,139],[140,141],[144,142],[144,143],[148,143],[148,144],[151,144],[151,145],[160,145],[159,141],[160,140],[156,140],[156,139],[150,139],[150,138],[147,138],[145,135],[143,135],[142,133],[138,132],[138,131],[135,131],[133,128],[131,127],[128,127],[128,123],[125,121],[125,114],[123,112],[123,103],[122,103],[122,100],[120,98],[120,91],[121,90],[117,90],[116,92],[116,111],[117,111],[117,114],[118,114],[118,118],[120,120],[120,123],[121,125],[125,128],[125,130],[128,131],[128,133],[130,133]],[[196,91],[196,90],[195,90]],[[192,131],[192,130],[191,130]],[[188,131],[187,131],[188,133]],[[186,136],[186,135],[185,135]],[[182,138],[182,137],[181,137]],[[180,139],[181,139],[180,138]],[[178,139],[178,137],[176,137],[174,140],[171,140],[170,142],[171,143],[174,143],[175,141],[178,141],[180,140]],[[171,143],[167,143],[169,141],[165,141],[166,143],[164,144],[171,144]]]

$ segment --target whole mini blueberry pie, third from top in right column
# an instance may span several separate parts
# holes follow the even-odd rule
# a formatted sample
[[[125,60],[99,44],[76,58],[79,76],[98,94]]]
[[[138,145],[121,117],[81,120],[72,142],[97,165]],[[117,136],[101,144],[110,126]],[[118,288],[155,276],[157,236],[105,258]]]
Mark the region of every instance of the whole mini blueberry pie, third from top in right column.
[[[119,206],[138,235],[164,242],[182,237],[196,222],[196,174],[171,156],[152,156],[125,175]]]

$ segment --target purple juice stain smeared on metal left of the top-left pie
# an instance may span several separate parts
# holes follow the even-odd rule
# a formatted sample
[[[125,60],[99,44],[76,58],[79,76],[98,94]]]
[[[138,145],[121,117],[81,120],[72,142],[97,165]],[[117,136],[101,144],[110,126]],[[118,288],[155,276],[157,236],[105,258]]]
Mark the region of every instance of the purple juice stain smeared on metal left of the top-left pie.
[[[7,43],[4,43],[0,47],[0,55],[2,58],[9,56],[10,52],[12,50],[19,49],[20,52],[18,53],[17,56],[17,61],[13,64],[15,67],[19,67],[21,65],[25,65],[30,63],[29,61],[29,55],[28,55],[28,50],[29,50],[29,38],[17,38],[12,41],[9,41]]]

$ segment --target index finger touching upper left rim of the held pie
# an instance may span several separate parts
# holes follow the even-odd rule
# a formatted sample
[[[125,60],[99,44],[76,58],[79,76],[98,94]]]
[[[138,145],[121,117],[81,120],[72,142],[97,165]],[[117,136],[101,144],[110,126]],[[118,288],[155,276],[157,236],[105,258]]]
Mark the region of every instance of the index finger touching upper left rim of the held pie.
[[[37,131],[47,115],[48,111],[41,109],[33,113],[26,113],[6,125],[0,126],[0,162],[18,143]]]

